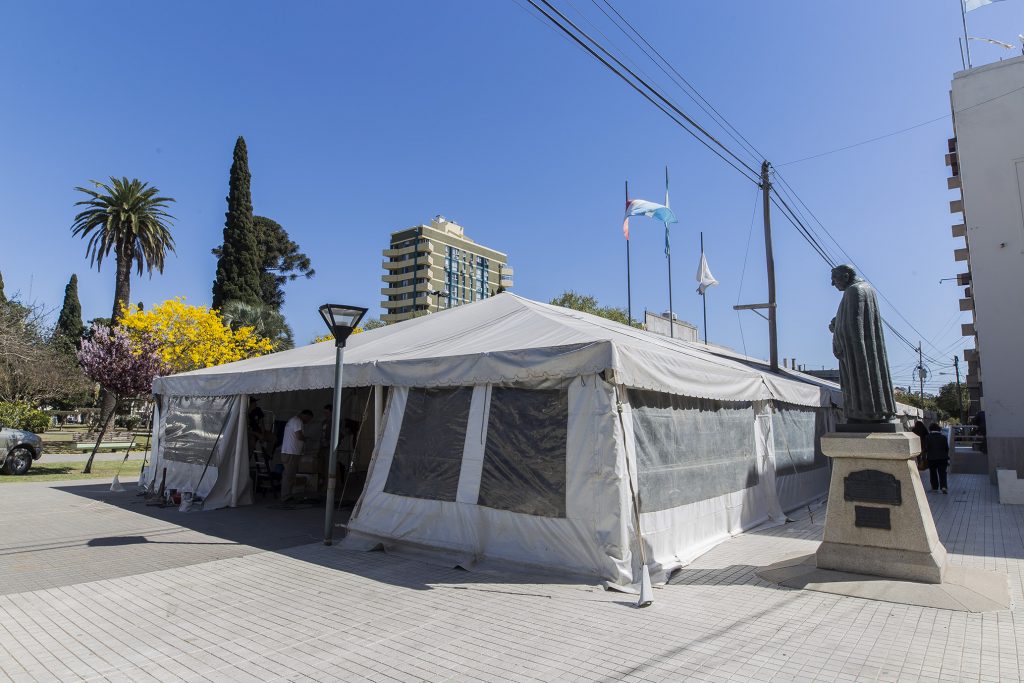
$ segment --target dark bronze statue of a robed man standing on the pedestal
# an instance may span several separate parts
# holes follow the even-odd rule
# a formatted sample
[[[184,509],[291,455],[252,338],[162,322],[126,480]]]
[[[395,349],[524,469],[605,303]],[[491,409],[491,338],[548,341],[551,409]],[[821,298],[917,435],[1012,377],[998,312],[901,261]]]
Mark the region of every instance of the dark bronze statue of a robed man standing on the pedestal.
[[[896,400],[874,289],[850,265],[836,266],[831,274],[843,293],[828,330],[847,422],[889,422],[896,415]]]

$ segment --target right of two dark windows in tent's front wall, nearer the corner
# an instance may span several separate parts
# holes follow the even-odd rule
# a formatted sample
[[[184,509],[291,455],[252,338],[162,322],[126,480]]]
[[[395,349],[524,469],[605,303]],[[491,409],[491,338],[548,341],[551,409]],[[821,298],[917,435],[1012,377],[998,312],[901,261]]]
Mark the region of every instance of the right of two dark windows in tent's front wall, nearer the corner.
[[[564,517],[568,422],[567,389],[494,387],[477,503]]]

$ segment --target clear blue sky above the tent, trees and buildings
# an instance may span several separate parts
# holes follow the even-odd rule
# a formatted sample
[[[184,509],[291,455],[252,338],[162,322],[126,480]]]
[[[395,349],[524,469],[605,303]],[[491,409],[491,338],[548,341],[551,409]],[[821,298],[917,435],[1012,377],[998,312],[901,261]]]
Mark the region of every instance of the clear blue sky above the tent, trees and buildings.
[[[585,0],[559,7],[632,47]],[[926,352],[959,352],[962,268],[943,165],[948,119],[784,166],[948,114],[961,68],[954,0],[895,3],[625,2],[615,6],[760,151],[909,321]],[[249,145],[256,212],[276,219],[317,275],[288,287],[296,338],[321,333],[327,300],[380,313],[391,230],[441,213],[505,251],[517,293],[574,289],[626,305],[623,182],[657,200],[672,170],[677,313],[700,318],[698,231],[721,285],[712,341],[767,355],[766,325],[732,305],[765,299],[756,187],[713,157],[524,0],[112,2],[0,5],[0,271],[8,294],[57,307],[72,272],[87,317],[106,315],[96,272],[69,227],[75,185],[128,175],[177,199],[177,256],[132,299],[209,303],[234,138]],[[1024,0],[969,15],[972,35],[1019,45]],[[603,22],[603,23],[602,23]],[[975,63],[1012,56],[974,43]],[[633,59],[701,121],[633,48]],[[774,221],[780,355],[833,367],[839,294],[827,267]],[[751,236],[746,254],[748,236]],[[633,223],[633,308],[668,306],[658,224]],[[742,281],[742,291],[739,286]],[[967,319],[967,318],[963,318]],[[741,327],[740,327],[741,321]],[[889,338],[894,382],[914,359]],[[965,342],[967,340],[964,340]],[[933,365],[933,371],[945,369]],[[936,381],[946,378],[936,377]]]

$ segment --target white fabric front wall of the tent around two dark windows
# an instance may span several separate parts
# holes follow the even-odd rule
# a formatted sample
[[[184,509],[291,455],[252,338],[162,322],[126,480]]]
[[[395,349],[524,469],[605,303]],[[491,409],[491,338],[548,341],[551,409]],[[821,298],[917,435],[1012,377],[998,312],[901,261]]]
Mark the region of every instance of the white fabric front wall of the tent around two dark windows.
[[[455,501],[387,493],[395,446],[406,429],[400,417],[407,410],[406,400],[399,399],[399,394],[407,390],[396,389],[396,400],[388,411],[371,480],[357,514],[349,523],[352,541],[346,539],[346,544],[359,547],[382,542],[395,550],[429,550],[465,566],[514,563],[524,568],[598,577],[615,583],[628,580],[631,557],[621,503],[625,477],[618,458],[621,439],[616,437],[611,387],[596,375],[589,375],[572,380],[560,390],[567,391],[562,409],[565,412],[561,414],[566,423],[562,431],[564,478],[557,476],[553,449],[548,447],[552,435],[558,433],[554,425],[558,421],[560,399],[553,400],[550,389],[536,391],[534,407],[528,408],[531,403],[528,396],[516,395],[509,400],[512,394],[505,394],[504,398],[496,399],[493,392],[497,389],[501,387],[476,387],[469,419],[459,423],[465,425],[465,434],[459,434],[464,443],[460,473],[472,476],[474,468],[479,468],[478,481],[482,482],[483,472],[489,466],[494,469],[490,485],[504,481],[507,495],[500,499],[481,497],[481,485],[472,480],[460,481]],[[502,470],[511,461],[497,459],[489,465],[486,461],[488,457],[495,460],[494,449],[508,443],[495,441],[499,445],[490,445],[489,430],[492,426],[496,432],[506,429],[538,407],[548,411],[546,460],[543,465],[535,463],[540,469],[517,463],[516,471],[524,475],[519,483],[511,478],[503,480],[502,471],[512,474],[511,470]],[[505,413],[499,415],[499,410]],[[496,420],[506,427],[498,428]],[[524,435],[528,434],[529,424],[528,420],[521,423]],[[410,438],[415,438],[415,434],[410,433]],[[508,438],[507,430],[504,438]],[[554,509],[550,494],[558,487],[563,507]],[[531,492],[536,495],[532,499]],[[541,495],[541,492],[546,493]],[[536,514],[487,507],[488,502],[530,509]]]

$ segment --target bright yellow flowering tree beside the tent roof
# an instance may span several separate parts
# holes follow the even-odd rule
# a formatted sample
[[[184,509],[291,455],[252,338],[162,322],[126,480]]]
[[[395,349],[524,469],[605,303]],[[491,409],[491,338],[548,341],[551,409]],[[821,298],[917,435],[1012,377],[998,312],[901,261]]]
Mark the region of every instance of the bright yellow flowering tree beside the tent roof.
[[[157,352],[171,372],[183,373],[264,355],[273,350],[271,341],[253,328],[231,330],[220,313],[206,306],[190,306],[184,297],[142,310],[127,306],[120,327],[133,341],[156,340]]]

